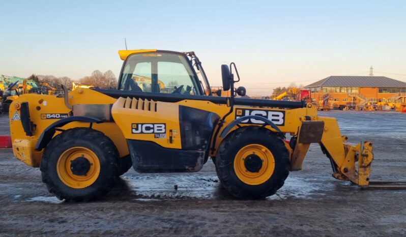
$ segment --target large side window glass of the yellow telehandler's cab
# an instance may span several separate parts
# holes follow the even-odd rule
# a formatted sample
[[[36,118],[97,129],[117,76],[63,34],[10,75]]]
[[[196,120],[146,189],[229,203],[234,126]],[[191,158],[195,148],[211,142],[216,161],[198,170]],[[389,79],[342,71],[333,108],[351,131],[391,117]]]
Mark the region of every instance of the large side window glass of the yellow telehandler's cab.
[[[184,54],[136,53],[128,56],[119,90],[202,95],[197,75]]]

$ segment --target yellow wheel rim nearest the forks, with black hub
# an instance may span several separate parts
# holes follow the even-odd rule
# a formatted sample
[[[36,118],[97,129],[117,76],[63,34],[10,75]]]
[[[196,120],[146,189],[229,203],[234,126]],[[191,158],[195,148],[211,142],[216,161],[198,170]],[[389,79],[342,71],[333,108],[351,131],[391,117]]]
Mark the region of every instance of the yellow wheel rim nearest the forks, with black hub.
[[[258,158],[261,165],[258,165]],[[247,159],[250,162],[247,162]],[[238,151],[234,159],[234,170],[242,182],[249,185],[260,185],[272,176],[275,170],[275,158],[267,147],[260,144],[249,144]]]

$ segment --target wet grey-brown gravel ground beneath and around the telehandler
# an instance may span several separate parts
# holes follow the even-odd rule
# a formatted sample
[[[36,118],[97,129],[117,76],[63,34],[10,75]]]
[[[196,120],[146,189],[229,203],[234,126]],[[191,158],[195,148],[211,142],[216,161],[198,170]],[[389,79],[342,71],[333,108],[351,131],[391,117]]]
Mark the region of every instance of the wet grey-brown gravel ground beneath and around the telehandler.
[[[350,141],[371,140],[372,180],[406,179],[406,114],[330,111]],[[0,116],[0,134],[8,131]],[[173,186],[178,185],[176,191]],[[312,145],[302,171],[276,195],[230,197],[209,161],[197,173],[139,174],[130,170],[100,201],[59,201],[38,168],[0,150],[0,235],[404,236],[406,191],[361,190],[333,179]]]

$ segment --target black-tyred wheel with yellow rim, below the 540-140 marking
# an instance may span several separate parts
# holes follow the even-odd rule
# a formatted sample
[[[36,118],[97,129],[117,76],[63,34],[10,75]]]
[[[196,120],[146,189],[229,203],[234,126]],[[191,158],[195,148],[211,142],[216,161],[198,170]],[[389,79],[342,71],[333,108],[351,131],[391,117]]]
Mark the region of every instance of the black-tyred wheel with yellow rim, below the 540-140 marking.
[[[55,136],[41,161],[42,181],[57,198],[100,199],[119,174],[119,152],[102,132],[73,128]]]

